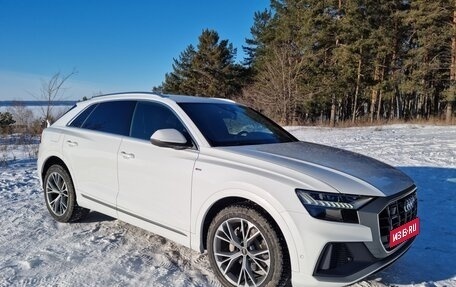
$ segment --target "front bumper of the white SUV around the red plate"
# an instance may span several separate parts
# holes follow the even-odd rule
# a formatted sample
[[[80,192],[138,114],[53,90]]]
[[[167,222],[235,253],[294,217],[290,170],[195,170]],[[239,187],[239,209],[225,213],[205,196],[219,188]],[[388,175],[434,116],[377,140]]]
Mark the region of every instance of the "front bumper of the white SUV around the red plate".
[[[414,238],[389,247],[389,230],[416,217],[416,187],[377,198],[358,211],[360,224],[329,222],[289,213],[299,232],[299,271],[293,286],[345,286],[378,272],[400,258]],[[414,206],[404,211],[404,202]],[[387,215],[388,218],[385,217]]]

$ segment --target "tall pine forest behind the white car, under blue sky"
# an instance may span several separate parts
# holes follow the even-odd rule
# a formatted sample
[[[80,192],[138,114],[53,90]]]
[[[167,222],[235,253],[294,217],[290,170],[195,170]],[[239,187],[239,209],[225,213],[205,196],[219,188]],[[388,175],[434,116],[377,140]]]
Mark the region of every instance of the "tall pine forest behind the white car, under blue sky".
[[[205,29],[154,90],[235,99],[283,125],[454,123],[455,2],[271,0],[243,61]]]

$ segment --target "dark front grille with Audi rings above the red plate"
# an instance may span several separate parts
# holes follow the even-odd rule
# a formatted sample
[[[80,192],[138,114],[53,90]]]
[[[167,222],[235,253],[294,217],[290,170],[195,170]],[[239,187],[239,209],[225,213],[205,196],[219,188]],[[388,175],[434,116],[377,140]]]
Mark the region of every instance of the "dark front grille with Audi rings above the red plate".
[[[380,212],[378,219],[380,224],[380,236],[386,250],[393,248],[389,245],[390,231],[415,219],[418,211],[418,199],[416,191],[388,204]]]

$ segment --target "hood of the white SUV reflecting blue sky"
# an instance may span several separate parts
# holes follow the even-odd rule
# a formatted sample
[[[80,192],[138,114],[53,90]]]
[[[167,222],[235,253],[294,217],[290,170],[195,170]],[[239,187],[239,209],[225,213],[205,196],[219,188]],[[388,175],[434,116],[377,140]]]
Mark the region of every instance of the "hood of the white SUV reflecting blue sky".
[[[303,173],[346,194],[389,196],[413,185],[410,177],[388,164],[315,143],[290,142],[223,149]]]

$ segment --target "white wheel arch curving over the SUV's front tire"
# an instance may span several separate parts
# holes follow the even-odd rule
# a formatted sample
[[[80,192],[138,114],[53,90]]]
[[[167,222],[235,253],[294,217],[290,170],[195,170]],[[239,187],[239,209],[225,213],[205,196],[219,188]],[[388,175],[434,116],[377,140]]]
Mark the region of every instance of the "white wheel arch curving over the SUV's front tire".
[[[252,198],[251,196],[245,196],[243,194],[229,195],[214,200],[207,212],[204,214],[200,222],[200,228],[196,230],[196,234],[199,235],[199,242],[193,242],[193,246],[199,244],[199,250],[204,251],[207,249],[207,234],[209,231],[209,225],[211,224],[214,217],[220,212],[220,210],[232,206],[232,205],[245,205],[254,208],[261,215],[263,215],[278,233],[280,240],[284,244],[286,251],[286,260],[289,264],[290,270],[299,270],[299,259],[297,257],[296,245],[294,243],[293,236],[288,224],[280,213],[273,208],[273,206],[267,203],[263,198],[257,197]]]

